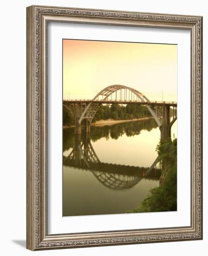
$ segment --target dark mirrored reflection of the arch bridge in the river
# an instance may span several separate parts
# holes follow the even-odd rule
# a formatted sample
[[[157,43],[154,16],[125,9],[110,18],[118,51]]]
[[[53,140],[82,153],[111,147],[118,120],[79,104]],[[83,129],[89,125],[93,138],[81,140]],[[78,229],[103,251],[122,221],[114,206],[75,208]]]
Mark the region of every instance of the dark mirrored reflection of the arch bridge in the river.
[[[109,189],[129,189],[142,179],[159,180],[161,169],[157,158],[149,168],[103,163],[91,144],[90,135],[74,135],[74,148],[68,156],[63,155],[63,166],[90,171],[95,178]]]

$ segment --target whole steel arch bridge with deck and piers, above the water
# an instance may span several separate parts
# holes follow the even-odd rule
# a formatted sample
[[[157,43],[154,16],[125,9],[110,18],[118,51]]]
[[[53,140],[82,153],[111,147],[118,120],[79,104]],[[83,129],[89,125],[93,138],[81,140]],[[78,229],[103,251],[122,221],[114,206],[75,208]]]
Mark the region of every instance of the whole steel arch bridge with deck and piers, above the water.
[[[75,134],[82,133],[81,125],[84,123],[85,131],[90,131],[96,112],[101,104],[139,104],[145,105],[158,124],[161,131],[161,140],[171,136],[171,126],[177,119],[177,103],[174,101],[149,101],[138,90],[124,86],[111,85],[102,89],[92,100],[63,100],[63,107],[75,118]],[[158,106],[160,110],[158,110]],[[171,120],[170,107],[173,118]],[[162,109],[162,111],[161,111]]]

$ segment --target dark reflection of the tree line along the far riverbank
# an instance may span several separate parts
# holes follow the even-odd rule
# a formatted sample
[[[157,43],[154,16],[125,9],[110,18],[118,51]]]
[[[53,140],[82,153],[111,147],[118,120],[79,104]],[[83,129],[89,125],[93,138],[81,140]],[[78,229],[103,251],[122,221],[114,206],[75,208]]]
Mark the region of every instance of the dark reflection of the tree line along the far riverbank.
[[[90,127],[90,139],[91,141],[97,141],[101,138],[109,138],[117,140],[120,136],[126,134],[131,137],[139,135],[142,130],[151,131],[153,128],[157,128],[157,123],[154,119],[132,121],[125,123],[117,123],[114,125],[105,126],[91,126]],[[86,137],[85,133],[82,133],[82,140]],[[63,129],[63,151],[74,147],[74,128]]]

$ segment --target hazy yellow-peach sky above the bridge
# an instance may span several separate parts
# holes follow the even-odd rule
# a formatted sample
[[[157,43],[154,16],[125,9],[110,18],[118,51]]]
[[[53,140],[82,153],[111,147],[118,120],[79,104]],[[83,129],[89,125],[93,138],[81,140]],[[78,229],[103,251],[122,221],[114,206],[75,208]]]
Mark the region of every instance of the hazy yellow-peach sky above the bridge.
[[[177,46],[63,40],[63,99],[92,99],[113,84],[177,101]]]

